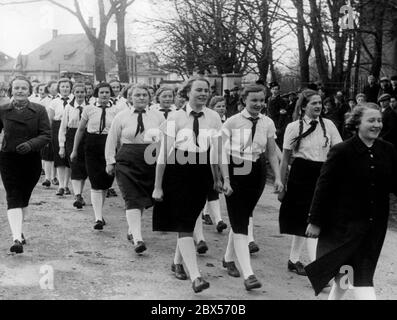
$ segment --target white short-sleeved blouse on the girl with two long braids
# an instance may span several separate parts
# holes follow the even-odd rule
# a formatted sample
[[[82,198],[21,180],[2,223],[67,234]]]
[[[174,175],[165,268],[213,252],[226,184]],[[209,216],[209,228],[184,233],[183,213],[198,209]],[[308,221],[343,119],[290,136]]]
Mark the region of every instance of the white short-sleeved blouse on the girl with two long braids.
[[[287,125],[284,134],[283,148],[286,150],[292,150],[292,157],[294,158],[325,162],[329,149],[335,144],[342,142],[338,129],[331,120],[323,118],[326,136],[329,140],[328,145],[325,146],[326,139],[324,137],[324,132],[320,123],[318,123],[316,129],[306,138],[301,140],[299,150],[295,150],[293,139],[299,135],[300,121],[301,120],[297,120]],[[310,122],[312,119],[304,116],[302,121],[303,133],[310,128]]]

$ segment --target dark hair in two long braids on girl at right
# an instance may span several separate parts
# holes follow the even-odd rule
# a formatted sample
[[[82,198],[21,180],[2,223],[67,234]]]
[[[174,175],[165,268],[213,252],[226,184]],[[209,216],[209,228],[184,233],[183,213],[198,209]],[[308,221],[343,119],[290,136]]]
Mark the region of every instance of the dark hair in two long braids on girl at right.
[[[304,139],[305,137],[307,137],[314,131],[311,128],[309,128],[308,130],[303,132],[303,117],[305,115],[304,109],[306,108],[307,104],[310,102],[311,97],[318,96],[318,95],[319,94],[317,91],[314,91],[311,89],[306,89],[306,90],[302,91],[302,93],[299,95],[299,99],[297,101],[297,109],[300,111],[299,133],[298,133],[298,136],[292,140],[292,142],[295,143],[295,147],[294,147],[295,151],[299,150],[302,139]],[[323,136],[325,138],[325,144],[324,144],[323,148],[326,148],[329,144],[329,138],[327,136],[327,130],[325,128],[324,120],[321,116],[319,117],[319,122],[320,122],[321,129],[323,131]]]

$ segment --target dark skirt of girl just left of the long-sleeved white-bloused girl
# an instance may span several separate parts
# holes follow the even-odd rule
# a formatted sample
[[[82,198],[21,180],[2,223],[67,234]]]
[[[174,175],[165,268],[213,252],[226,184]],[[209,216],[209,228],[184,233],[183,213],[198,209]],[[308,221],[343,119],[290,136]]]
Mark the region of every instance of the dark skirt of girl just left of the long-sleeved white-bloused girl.
[[[85,140],[85,165],[93,190],[107,190],[114,176],[106,173],[105,144],[106,134],[87,133]]]

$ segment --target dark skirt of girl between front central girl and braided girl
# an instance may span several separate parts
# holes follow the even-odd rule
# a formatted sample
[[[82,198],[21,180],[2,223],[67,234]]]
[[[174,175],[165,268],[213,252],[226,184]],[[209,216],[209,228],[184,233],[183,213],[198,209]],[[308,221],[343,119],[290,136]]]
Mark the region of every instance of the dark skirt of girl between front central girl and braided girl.
[[[264,154],[255,162],[231,158],[229,175],[233,193],[225,198],[230,225],[234,233],[248,235],[249,218],[266,184]]]

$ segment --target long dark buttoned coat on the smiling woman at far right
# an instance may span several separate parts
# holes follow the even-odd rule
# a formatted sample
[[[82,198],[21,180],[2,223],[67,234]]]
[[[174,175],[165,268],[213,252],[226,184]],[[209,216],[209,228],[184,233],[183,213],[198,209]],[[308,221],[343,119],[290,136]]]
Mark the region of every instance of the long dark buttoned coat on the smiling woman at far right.
[[[355,135],[331,148],[308,218],[321,228],[317,260],[306,267],[316,294],[351,261],[357,281],[371,283],[386,234],[390,192],[397,194],[392,144],[377,139],[368,148]]]

